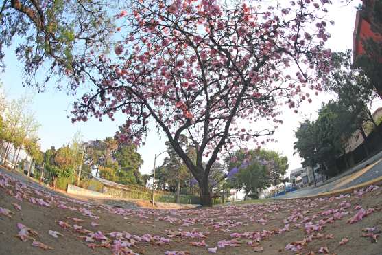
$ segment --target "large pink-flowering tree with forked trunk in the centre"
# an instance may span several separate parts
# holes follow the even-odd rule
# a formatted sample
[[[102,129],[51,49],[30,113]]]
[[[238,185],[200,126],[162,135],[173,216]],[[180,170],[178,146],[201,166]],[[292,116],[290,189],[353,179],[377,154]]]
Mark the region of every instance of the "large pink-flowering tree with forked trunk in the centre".
[[[121,112],[126,123],[116,136],[136,144],[154,122],[198,181],[202,205],[211,206],[213,163],[238,143],[260,146],[282,123],[281,108],[297,112],[311,102],[309,93],[322,90],[314,74],[329,68],[329,0],[127,2],[116,16],[114,50],[95,44],[71,58],[70,87],[92,87],[75,102],[72,121],[114,120]],[[256,127],[267,120],[269,129]],[[181,135],[192,141],[196,160],[180,145]]]

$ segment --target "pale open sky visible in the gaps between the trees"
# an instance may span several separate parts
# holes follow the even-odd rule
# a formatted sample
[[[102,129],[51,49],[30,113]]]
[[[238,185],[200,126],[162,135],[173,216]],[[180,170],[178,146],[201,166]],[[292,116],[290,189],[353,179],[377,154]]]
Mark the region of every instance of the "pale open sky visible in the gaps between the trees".
[[[355,23],[355,5],[360,1],[353,1],[346,6],[340,1],[335,2],[329,9],[328,20],[335,21],[335,26],[329,29],[331,39],[327,46],[334,51],[346,50],[353,48],[353,30]],[[13,49],[7,49],[5,52],[5,63],[7,68],[3,74],[0,74],[0,80],[3,81],[4,89],[8,98],[18,98],[23,93],[35,93],[31,88],[22,87],[22,68],[19,61],[16,59]],[[291,111],[285,111],[283,116],[284,124],[278,130],[274,137],[278,140],[277,143],[266,144],[265,148],[272,148],[289,159],[289,170],[300,166],[300,158],[298,155],[293,155],[293,143],[296,140],[294,130],[298,126],[298,122],[305,116],[314,119],[315,111],[320,108],[321,102],[326,102],[331,96],[322,94],[313,98],[313,103],[309,104],[306,109],[300,109],[303,113],[296,115]],[[106,136],[112,136],[117,131],[119,124],[124,122],[123,118],[116,118],[115,122],[104,119],[103,122],[98,120],[88,120],[88,122],[80,122],[72,124],[66,116],[71,111],[71,104],[75,101],[75,96],[68,96],[64,92],[57,91],[53,87],[48,88],[45,93],[34,95],[34,104],[32,110],[36,113],[36,118],[40,122],[41,127],[39,136],[43,150],[50,146],[62,146],[68,143],[76,131],[81,131],[83,140],[103,139]],[[376,108],[380,102],[372,108]],[[152,125],[154,126],[154,125]],[[139,148],[144,164],[141,172],[149,173],[154,165],[154,154],[165,151],[165,137],[158,135],[155,129],[148,134],[146,145]],[[165,153],[164,153],[165,154]],[[157,164],[163,161],[165,155],[161,155]]]

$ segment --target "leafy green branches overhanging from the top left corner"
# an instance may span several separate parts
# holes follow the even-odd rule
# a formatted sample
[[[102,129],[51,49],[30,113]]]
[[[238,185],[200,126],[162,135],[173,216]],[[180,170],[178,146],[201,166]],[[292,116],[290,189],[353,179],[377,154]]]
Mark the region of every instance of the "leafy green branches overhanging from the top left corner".
[[[70,86],[88,78],[82,67],[84,59],[94,58],[91,52],[107,52],[114,5],[107,0],[5,0],[0,3],[0,69],[3,50],[14,43],[17,57],[24,63],[23,75],[28,85],[62,78]],[[88,49],[84,51],[84,49]],[[97,57],[95,57],[95,60]],[[46,68],[48,67],[48,68]],[[40,79],[41,74],[45,78]]]

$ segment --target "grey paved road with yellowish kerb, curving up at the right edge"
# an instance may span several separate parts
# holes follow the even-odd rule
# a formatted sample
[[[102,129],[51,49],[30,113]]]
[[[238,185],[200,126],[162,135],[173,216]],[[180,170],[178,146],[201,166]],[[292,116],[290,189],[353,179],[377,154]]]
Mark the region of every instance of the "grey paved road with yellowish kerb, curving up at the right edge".
[[[305,197],[318,195],[323,192],[340,190],[343,188],[349,188],[358,184],[362,184],[366,181],[371,181],[377,177],[382,176],[382,152],[374,155],[370,159],[361,162],[357,166],[350,168],[346,172],[326,180],[324,183],[320,183],[317,186],[308,186],[300,188],[294,192],[289,192],[286,195],[278,196],[277,199],[293,198],[293,197]]]

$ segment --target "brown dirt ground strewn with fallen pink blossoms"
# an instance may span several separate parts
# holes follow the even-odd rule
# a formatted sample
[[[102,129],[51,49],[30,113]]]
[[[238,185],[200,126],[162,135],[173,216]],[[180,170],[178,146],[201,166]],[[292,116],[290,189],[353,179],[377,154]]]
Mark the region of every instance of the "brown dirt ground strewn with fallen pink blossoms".
[[[217,248],[217,254],[377,255],[381,208],[382,188],[370,186],[336,197],[153,210],[73,199],[0,173],[0,254],[210,254]],[[32,246],[36,241],[52,250]]]

